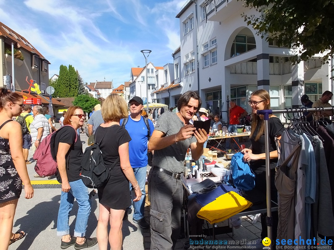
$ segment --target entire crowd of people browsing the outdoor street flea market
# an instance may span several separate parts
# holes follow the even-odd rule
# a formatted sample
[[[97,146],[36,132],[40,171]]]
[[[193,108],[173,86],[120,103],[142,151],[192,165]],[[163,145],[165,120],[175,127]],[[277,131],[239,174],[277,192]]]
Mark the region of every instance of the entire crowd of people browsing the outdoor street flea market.
[[[315,103],[304,95],[301,101],[306,107],[327,105],[332,93],[325,91]],[[228,132],[234,132],[240,119],[247,112],[230,101]],[[244,160],[248,161],[256,175],[256,190],[265,197],[265,138],[263,116],[257,110],[270,109],[270,96],[266,90],[251,94],[248,104],[252,108],[251,144],[242,150]],[[193,120],[211,120],[211,128],[221,130],[218,114],[211,114],[201,108],[202,101],[193,91],[184,93],[177,102],[176,109],[163,112],[152,122],[152,110],[144,110],[143,100],[135,96],[128,104],[117,94],[110,94],[94,108],[88,121],[88,133],[94,137],[102,152],[109,172],[109,178],[102,187],[97,188],[99,198],[99,219],[97,237],[86,236],[88,218],[91,213],[89,191],[82,182],[81,159],[82,143],[77,139],[78,129],[82,128],[86,114],[82,108],[72,106],[62,113],[60,126],[65,126],[55,135],[55,152],[58,164],[56,178],[61,183],[60,206],[57,218],[57,235],[61,236],[61,249],[74,245],[75,249],[89,248],[96,244],[99,249],[122,249],[122,224],[133,206],[133,222],[141,228],[150,228],[151,249],[174,249],[180,235],[181,206],[183,188],[181,175],[184,160],[190,148],[194,160],[202,160],[203,147],[206,147],[208,134],[204,129],[196,130]],[[175,110],[177,112],[175,112]],[[32,115],[31,115],[32,112]],[[315,119],[317,114],[305,114],[307,119]],[[327,113],[326,113],[327,115]],[[22,116],[25,125],[14,122],[13,117]],[[310,118],[311,117],[311,118]],[[48,108],[39,105],[23,104],[23,98],[7,89],[0,89],[0,238],[4,244],[0,249],[25,237],[25,232],[13,233],[13,220],[18,198],[25,189],[25,198],[33,197],[34,190],[26,165],[29,149],[35,150],[40,142],[52,131],[56,131],[54,120],[48,115]],[[20,119],[17,119],[19,121]],[[22,118],[21,118],[22,120]],[[26,130],[24,130],[26,128]],[[269,119],[270,164],[274,166],[278,153],[275,138],[280,138],[284,126],[274,115]],[[28,131],[28,132],[27,132]],[[226,141],[226,145],[228,142]],[[147,176],[148,152],[153,153],[152,168]],[[34,177],[44,176],[35,175]],[[145,183],[148,181],[150,221],[144,218]],[[272,183],[272,198],[277,190]],[[115,192],[117,190],[117,192]],[[74,199],[78,203],[74,232],[69,229],[69,213]],[[274,228],[277,227],[278,214],[273,213]],[[266,214],[261,216],[262,238],[266,237]],[[108,226],[110,230],[108,232]],[[273,232],[275,233],[275,229]],[[275,238],[275,235],[274,235]]]

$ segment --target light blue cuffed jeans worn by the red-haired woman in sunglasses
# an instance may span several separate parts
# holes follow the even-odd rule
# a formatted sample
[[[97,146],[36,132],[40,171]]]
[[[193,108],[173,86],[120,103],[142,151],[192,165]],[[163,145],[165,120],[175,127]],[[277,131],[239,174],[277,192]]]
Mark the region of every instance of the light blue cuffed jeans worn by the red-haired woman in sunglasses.
[[[60,206],[57,220],[57,235],[63,236],[69,234],[69,213],[72,210],[74,198],[76,199],[79,209],[76,215],[74,236],[85,237],[88,217],[91,213],[91,203],[89,199],[88,188],[82,180],[72,181],[69,183],[71,189],[68,193],[61,191]]]

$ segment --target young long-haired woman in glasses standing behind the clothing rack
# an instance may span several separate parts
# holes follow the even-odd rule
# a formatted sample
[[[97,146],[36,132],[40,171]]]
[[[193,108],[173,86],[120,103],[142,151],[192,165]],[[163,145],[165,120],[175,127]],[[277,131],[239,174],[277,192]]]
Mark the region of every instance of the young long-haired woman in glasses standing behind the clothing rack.
[[[249,165],[256,176],[255,188],[250,191],[256,193],[257,198],[266,201],[266,150],[265,150],[265,124],[263,115],[258,115],[258,110],[270,109],[270,96],[264,89],[256,90],[252,93],[248,104],[252,107],[252,128],[250,148],[245,148],[241,152],[244,154],[243,159],[249,161]],[[275,187],[275,167],[277,166],[278,153],[275,143],[275,137],[281,138],[284,131],[282,122],[275,115],[269,116],[269,139],[270,139],[270,169],[271,169],[271,198],[277,203],[277,189]],[[261,238],[267,237],[267,214],[261,214],[262,233]],[[277,236],[278,213],[272,213],[273,239],[275,243]]]

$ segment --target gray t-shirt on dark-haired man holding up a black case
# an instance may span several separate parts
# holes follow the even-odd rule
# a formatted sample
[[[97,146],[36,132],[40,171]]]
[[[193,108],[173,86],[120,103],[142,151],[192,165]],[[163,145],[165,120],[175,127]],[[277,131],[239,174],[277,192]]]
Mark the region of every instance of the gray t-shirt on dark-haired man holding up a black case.
[[[159,130],[166,134],[166,136],[175,135],[184,126],[176,113],[163,113],[154,130]],[[184,172],[184,158],[190,144],[197,142],[195,136],[192,136],[184,141],[179,141],[163,149],[154,150],[153,166],[164,168],[173,173]]]

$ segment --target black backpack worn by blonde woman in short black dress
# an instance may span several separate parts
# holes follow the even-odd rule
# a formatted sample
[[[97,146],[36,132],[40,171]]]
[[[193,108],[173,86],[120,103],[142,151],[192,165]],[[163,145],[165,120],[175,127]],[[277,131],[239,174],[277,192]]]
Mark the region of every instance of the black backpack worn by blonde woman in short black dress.
[[[104,134],[104,136],[105,135],[106,134]],[[83,184],[89,188],[99,188],[105,185],[109,179],[109,172],[120,160],[120,157],[118,157],[110,169],[108,169],[104,163],[102,152],[99,147],[101,142],[86,148],[81,159],[81,180]]]

